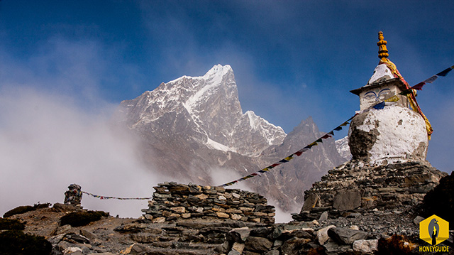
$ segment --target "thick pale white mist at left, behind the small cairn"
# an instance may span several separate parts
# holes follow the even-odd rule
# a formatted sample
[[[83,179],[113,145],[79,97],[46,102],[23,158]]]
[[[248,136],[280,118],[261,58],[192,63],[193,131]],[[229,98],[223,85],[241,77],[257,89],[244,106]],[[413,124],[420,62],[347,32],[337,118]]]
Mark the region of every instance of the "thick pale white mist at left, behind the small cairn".
[[[116,105],[87,109],[70,96],[30,87],[0,89],[0,215],[20,205],[63,202],[67,186],[112,197],[152,197],[163,178],[138,158],[133,136],[109,124]],[[147,200],[99,200],[82,206],[139,217]]]

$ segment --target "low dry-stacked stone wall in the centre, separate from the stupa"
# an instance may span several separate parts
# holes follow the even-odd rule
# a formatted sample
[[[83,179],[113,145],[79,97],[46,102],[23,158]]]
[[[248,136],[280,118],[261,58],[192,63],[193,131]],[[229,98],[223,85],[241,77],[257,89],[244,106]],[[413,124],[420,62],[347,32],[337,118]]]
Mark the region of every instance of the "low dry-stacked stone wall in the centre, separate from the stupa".
[[[275,207],[258,193],[222,187],[159,183],[144,217],[152,222],[176,219],[233,219],[275,222]]]

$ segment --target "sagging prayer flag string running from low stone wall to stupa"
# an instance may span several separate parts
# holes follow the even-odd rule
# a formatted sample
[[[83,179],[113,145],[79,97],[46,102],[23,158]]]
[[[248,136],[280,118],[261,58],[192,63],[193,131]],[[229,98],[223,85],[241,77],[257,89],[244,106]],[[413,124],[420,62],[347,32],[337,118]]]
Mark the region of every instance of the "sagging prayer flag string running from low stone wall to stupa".
[[[279,166],[281,165],[282,163],[287,163],[289,161],[291,161],[294,156],[301,156],[302,153],[304,153],[305,151],[309,151],[312,147],[316,146],[318,143],[323,143],[323,140],[324,139],[328,139],[332,136],[334,136],[334,131],[340,131],[342,130],[342,127],[343,126],[347,126],[349,124],[349,121],[353,119],[354,116],[352,116],[350,119],[348,119],[347,121],[343,122],[343,124],[339,125],[339,126],[336,126],[335,129],[329,131],[328,133],[324,134],[323,136],[321,136],[319,139],[317,139],[316,141],[312,142],[312,143],[309,143],[307,146],[305,146],[304,148],[301,148],[299,151],[295,152],[295,153],[292,153],[290,154],[289,156],[285,157],[285,158],[282,158],[280,161],[277,161],[276,163],[273,163],[272,165],[270,166],[267,166],[266,168],[263,168],[261,170],[258,170],[257,172],[255,173],[251,173],[250,175],[246,175],[242,178],[239,178],[237,180],[233,180],[231,181],[230,183],[224,183],[223,185],[220,185],[221,187],[226,187],[226,186],[230,186],[230,185],[233,185],[235,183],[239,183],[240,181],[243,181],[243,180],[248,180],[249,178],[253,178],[254,176],[257,176],[257,175],[260,175],[261,173],[267,173],[267,171],[271,170],[272,168],[275,168],[276,166]]]

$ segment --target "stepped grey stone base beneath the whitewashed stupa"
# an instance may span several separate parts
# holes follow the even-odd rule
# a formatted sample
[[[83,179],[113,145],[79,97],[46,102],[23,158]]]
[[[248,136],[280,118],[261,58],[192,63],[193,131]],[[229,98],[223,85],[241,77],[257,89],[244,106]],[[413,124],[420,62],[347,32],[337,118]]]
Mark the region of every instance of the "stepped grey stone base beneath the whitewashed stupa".
[[[319,219],[323,212],[338,217],[343,212],[389,210],[419,204],[443,176],[427,161],[370,164],[352,160],[328,171],[304,192],[304,205],[295,220]]]

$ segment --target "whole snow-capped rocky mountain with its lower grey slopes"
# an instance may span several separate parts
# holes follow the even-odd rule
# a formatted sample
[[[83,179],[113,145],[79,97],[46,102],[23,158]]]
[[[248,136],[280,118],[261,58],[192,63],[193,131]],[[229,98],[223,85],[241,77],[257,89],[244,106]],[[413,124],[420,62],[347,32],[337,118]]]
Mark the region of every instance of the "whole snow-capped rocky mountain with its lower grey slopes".
[[[201,185],[255,173],[321,134],[312,119],[287,136],[253,111],[243,113],[229,65],[215,65],[199,77],[179,77],[123,101],[116,118],[140,136],[141,156],[150,169],[169,180]],[[301,206],[304,190],[343,162],[329,139],[304,154],[244,183],[284,210]]]

